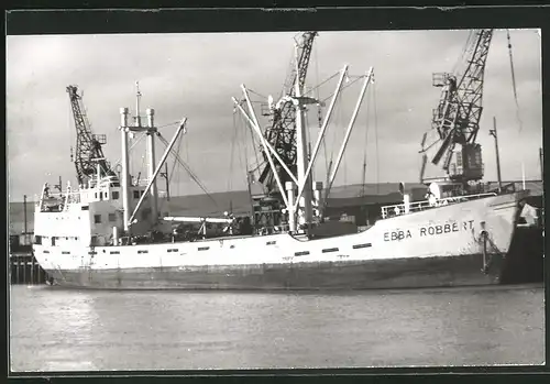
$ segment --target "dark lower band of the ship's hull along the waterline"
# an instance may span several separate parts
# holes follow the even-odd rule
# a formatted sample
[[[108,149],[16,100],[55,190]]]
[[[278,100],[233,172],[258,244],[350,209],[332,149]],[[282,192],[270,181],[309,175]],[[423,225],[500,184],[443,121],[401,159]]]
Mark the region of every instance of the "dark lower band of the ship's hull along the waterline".
[[[106,289],[370,289],[468,286],[499,283],[502,260],[482,272],[483,255],[218,265],[129,270],[51,271],[58,285]]]

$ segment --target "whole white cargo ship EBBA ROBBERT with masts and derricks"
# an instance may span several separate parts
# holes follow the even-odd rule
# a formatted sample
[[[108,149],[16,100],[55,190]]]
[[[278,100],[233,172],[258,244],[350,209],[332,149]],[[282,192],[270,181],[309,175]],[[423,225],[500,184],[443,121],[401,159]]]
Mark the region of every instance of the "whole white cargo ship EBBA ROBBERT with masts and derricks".
[[[302,55],[304,52],[307,45]],[[297,63],[304,62],[302,55],[296,55]],[[59,194],[53,194],[45,184],[41,191],[34,215],[33,251],[51,284],[98,289],[278,290],[502,283],[527,190],[457,193],[455,183],[451,183],[454,193],[447,194],[444,183],[435,182],[429,184],[426,200],[410,201],[404,190],[402,204],[382,207],[380,219],[361,232],[315,235],[324,224],[320,194],[323,187],[312,183],[311,168],[348,66],[340,73],[321,133],[309,153],[305,141],[306,106],[320,101],[304,94],[300,70],[297,66],[290,92],[277,103],[270,100],[274,114],[280,114],[285,106],[292,108],[296,127],[294,171],[260,129],[244,85],[243,100],[233,99],[235,109],[263,145],[268,169],[278,186],[278,198],[284,202],[276,212],[282,220],[253,231],[250,218],[231,212],[222,217],[161,215],[156,178],[177,138],[186,132],[187,119],[182,120],[157,164],[155,113],[147,109],[148,121],[142,125],[138,92],[134,124],[129,124],[129,109],[121,109],[120,172],[112,172],[99,151],[90,152],[95,157],[87,168],[80,169],[86,176],[84,183],[76,188],[68,183]],[[362,78],[361,95],[332,176],[364,92],[373,81],[373,69]],[[76,100],[74,88],[68,91]],[[81,117],[76,101],[73,111],[75,117]],[[76,121],[82,123],[82,138],[92,142],[91,133],[85,131],[85,119]],[[129,136],[140,132],[148,143],[146,183],[136,182],[129,172]],[[282,176],[284,172],[286,177]],[[329,188],[332,182],[333,177]],[[178,223],[177,228],[186,223],[199,229],[182,233],[174,228]],[[209,234],[207,229],[211,226],[221,226],[221,233]]]

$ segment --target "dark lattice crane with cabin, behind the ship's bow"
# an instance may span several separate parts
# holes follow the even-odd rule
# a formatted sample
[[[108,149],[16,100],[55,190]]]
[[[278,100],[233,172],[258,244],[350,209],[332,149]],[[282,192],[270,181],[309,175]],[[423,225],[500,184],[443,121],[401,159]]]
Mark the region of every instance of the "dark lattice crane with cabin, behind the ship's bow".
[[[466,43],[462,74],[433,74],[433,86],[442,87],[441,99],[433,110],[431,128],[437,131],[441,144],[431,160],[442,168],[449,179],[468,188],[469,182],[483,178],[481,145],[475,142],[483,111],[483,77],[493,30],[475,30]],[[422,140],[422,151],[425,152]],[[430,145],[431,146],[431,145]],[[455,151],[455,147],[458,150]],[[424,178],[424,164],[420,178]]]

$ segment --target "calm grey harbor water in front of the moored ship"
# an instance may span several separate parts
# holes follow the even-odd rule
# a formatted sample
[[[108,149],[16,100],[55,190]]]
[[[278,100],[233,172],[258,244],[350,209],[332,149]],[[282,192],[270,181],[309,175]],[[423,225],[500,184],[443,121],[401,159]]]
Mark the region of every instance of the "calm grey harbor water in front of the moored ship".
[[[11,370],[541,364],[542,284],[356,293],[12,285]]]

